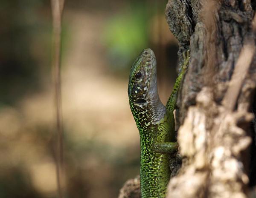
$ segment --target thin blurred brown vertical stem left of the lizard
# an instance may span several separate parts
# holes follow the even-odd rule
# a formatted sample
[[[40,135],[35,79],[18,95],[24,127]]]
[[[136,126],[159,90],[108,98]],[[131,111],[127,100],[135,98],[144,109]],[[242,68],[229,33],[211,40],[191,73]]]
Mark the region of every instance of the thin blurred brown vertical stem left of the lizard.
[[[55,106],[56,106],[56,173],[58,184],[58,196],[63,197],[63,123],[62,123],[62,108],[61,108],[61,18],[64,8],[64,0],[51,0],[52,4],[52,28],[53,28],[53,43],[52,43],[52,77],[55,87]]]

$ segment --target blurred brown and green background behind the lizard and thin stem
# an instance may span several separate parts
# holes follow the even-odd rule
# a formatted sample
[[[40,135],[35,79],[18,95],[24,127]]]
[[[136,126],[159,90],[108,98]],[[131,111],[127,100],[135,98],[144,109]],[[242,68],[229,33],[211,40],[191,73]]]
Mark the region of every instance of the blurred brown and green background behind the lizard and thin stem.
[[[65,198],[115,198],[139,174],[131,64],[157,56],[160,98],[177,76],[167,0],[65,2],[61,89]],[[0,198],[57,198],[49,0],[0,2]]]

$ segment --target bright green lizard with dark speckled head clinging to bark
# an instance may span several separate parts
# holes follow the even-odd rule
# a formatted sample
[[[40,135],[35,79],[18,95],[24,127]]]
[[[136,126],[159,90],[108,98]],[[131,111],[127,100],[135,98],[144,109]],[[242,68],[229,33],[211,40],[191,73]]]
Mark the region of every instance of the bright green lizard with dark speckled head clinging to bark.
[[[166,107],[157,91],[154,52],[144,49],[134,61],[128,84],[131,112],[140,132],[140,190],[142,198],[164,198],[170,179],[169,158],[177,151],[175,121],[177,91],[189,62],[189,52]]]

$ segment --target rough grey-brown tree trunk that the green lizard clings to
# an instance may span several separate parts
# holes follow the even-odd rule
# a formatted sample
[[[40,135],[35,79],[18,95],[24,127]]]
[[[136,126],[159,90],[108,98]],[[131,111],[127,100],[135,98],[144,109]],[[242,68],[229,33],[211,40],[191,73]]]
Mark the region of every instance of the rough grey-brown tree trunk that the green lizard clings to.
[[[176,111],[183,164],[170,180],[167,198],[252,196],[255,6],[255,0],[167,3],[166,19],[179,41],[180,63],[182,52],[191,50]]]

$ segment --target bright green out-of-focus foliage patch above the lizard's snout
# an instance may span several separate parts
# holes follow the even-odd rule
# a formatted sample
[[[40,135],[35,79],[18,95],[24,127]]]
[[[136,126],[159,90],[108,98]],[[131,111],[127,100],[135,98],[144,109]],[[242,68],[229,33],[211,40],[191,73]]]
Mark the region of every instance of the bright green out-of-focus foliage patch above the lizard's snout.
[[[108,60],[114,70],[127,69],[131,59],[148,46],[148,15],[141,3],[131,8],[131,12],[118,13],[106,23],[102,35],[108,48]]]

